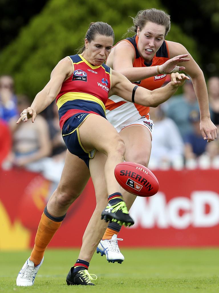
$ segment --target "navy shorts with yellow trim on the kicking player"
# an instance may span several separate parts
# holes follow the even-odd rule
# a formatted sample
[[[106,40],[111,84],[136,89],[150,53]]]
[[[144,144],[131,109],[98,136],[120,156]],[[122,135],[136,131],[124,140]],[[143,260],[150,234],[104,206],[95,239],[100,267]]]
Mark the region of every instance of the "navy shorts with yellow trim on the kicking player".
[[[95,156],[96,149],[88,152],[81,144],[79,126],[91,113],[77,113],[67,119],[62,128],[62,137],[70,153],[82,159],[89,168],[89,160]]]

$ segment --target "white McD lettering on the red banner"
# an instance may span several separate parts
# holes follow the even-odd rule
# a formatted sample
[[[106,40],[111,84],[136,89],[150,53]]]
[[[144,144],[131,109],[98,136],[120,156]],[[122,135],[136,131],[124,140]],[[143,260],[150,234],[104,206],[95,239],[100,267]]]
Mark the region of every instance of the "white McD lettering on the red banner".
[[[210,207],[208,213],[206,205]],[[186,229],[190,225],[211,227],[219,224],[219,195],[213,191],[194,191],[191,198],[173,197],[167,203],[165,194],[158,192],[152,197],[137,197],[130,214],[135,221],[133,229],[138,226],[160,229]]]

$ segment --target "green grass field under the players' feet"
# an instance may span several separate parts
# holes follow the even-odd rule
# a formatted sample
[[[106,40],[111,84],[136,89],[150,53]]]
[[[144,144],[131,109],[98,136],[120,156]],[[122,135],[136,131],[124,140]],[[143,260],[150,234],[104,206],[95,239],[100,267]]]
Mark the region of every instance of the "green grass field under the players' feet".
[[[30,251],[0,252],[0,292],[219,292],[218,249],[122,249],[122,264],[95,253],[89,272],[98,276],[96,286],[67,286],[78,252],[47,250],[33,287],[16,286]]]

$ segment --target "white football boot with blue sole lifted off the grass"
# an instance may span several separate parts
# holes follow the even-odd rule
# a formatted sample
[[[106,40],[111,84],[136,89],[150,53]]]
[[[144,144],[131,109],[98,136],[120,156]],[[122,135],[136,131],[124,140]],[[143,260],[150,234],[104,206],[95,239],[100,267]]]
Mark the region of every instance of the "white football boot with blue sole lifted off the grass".
[[[112,239],[100,240],[97,246],[97,253],[100,253],[101,256],[105,254],[109,263],[122,263],[124,256],[119,250],[118,240],[122,241],[123,239],[117,238],[116,234],[112,236]]]

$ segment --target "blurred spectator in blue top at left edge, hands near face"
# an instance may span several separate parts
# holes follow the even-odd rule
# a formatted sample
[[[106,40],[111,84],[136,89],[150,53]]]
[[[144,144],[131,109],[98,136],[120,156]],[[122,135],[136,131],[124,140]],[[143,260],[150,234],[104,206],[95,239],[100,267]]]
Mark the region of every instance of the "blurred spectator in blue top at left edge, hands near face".
[[[16,127],[16,119],[19,113],[13,88],[13,78],[2,75],[0,77],[0,118],[8,123],[12,131]]]

